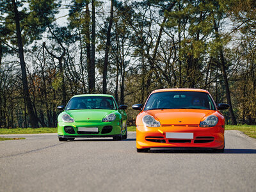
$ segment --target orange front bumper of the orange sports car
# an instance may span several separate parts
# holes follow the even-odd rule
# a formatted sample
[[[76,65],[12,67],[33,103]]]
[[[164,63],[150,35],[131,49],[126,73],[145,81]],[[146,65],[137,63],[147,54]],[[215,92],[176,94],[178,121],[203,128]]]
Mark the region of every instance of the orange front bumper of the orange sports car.
[[[166,138],[166,132],[193,133],[193,138]],[[136,126],[137,148],[224,148],[224,127],[198,125]]]

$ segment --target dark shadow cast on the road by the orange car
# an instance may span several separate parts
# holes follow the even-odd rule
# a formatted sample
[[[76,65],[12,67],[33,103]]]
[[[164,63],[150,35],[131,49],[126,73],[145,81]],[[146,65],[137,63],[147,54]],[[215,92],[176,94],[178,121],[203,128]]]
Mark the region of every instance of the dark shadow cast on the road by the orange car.
[[[148,153],[171,153],[171,154],[216,154],[211,149],[152,149]],[[248,148],[225,148],[221,154],[256,154],[256,149]]]

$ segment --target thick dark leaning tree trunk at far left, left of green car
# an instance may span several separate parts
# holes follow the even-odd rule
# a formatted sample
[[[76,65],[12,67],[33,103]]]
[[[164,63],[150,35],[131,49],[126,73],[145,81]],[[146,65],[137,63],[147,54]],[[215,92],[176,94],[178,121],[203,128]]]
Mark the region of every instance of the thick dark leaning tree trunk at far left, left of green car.
[[[24,60],[24,51],[23,51],[23,44],[22,44],[22,37],[20,33],[20,19],[19,19],[19,12],[17,9],[17,4],[15,0],[12,0],[13,11],[15,15],[15,24],[16,24],[16,33],[17,33],[17,43],[19,47],[19,58],[20,58],[20,68],[22,72],[22,86],[23,86],[23,94],[26,100],[27,108],[28,108],[28,115],[29,115],[29,122],[31,123],[33,128],[38,127],[38,118],[33,111],[31,99],[29,97],[29,90],[28,90],[28,79],[26,74],[26,63]]]

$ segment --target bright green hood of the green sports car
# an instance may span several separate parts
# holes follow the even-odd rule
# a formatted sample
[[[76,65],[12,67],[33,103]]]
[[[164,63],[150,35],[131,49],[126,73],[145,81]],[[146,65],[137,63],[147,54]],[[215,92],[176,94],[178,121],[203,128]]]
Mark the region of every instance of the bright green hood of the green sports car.
[[[78,109],[65,111],[74,118],[75,122],[89,120],[89,121],[101,121],[104,116],[115,112],[116,110],[109,109]]]

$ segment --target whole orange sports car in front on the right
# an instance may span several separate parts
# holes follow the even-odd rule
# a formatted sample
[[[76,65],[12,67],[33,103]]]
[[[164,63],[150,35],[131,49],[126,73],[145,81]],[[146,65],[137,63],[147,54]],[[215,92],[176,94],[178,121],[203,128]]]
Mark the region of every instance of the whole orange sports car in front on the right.
[[[225,148],[225,118],[209,92],[200,89],[161,89],[153,91],[136,118],[137,152],[150,148]]]

